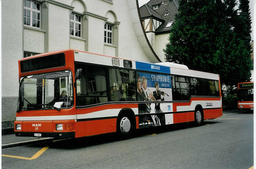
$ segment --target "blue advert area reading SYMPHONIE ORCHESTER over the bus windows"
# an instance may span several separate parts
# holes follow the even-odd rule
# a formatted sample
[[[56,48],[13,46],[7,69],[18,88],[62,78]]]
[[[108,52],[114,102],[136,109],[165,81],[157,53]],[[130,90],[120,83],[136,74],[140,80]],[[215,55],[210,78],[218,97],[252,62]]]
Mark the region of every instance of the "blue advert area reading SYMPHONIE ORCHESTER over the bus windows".
[[[171,76],[169,75],[143,73],[143,72],[137,72],[137,73],[139,74],[140,78],[144,76],[147,79],[148,87],[154,87],[155,82],[158,82],[160,88],[171,89]]]

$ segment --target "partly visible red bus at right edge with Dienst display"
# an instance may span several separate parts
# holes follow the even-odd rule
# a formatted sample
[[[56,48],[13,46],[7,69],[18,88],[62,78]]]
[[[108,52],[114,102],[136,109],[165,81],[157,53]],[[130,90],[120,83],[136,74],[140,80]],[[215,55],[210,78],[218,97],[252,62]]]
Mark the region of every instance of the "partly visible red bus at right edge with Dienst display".
[[[253,111],[253,82],[237,84],[238,109]]]

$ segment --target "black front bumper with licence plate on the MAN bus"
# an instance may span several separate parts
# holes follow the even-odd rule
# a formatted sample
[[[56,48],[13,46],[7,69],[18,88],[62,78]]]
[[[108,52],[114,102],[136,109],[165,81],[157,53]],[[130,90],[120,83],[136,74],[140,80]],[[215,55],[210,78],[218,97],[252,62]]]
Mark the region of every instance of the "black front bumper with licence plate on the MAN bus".
[[[40,135],[41,134],[41,135]],[[37,135],[37,136],[35,136]],[[38,136],[40,135],[40,136]],[[75,132],[15,132],[18,137],[53,137],[53,138],[74,138]]]

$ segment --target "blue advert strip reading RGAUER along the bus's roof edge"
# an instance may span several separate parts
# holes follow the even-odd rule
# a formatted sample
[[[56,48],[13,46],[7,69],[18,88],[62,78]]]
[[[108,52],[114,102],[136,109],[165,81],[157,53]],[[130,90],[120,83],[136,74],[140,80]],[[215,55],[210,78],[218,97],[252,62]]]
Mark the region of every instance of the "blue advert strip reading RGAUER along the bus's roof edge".
[[[136,69],[139,70],[148,70],[153,72],[159,72],[159,73],[171,73],[171,70],[167,66],[161,66],[156,64],[150,64],[150,63],[143,63],[143,62],[135,62]]]

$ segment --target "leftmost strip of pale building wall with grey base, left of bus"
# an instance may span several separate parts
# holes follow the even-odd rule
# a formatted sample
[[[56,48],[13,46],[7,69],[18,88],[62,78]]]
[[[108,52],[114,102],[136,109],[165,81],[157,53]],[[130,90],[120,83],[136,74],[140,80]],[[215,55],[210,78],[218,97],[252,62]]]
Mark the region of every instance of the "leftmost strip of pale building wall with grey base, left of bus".
[[[2,0],[1,3],[2,120],[12,120],[19,90],[18,59],[23,57],[23,1]]]

